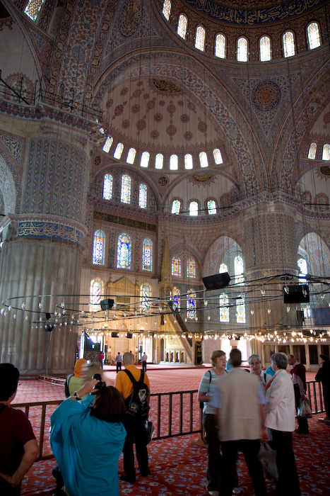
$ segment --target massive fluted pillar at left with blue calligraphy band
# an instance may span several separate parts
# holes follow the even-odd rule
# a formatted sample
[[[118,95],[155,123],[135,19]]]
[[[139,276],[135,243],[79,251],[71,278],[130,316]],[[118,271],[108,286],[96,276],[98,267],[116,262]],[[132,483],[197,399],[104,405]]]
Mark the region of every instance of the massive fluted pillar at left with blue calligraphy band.
[[[1,222],[1,361],[21,373],[66,373],[79,329],[87,140],[45,118],[26,142],[20,211]]]

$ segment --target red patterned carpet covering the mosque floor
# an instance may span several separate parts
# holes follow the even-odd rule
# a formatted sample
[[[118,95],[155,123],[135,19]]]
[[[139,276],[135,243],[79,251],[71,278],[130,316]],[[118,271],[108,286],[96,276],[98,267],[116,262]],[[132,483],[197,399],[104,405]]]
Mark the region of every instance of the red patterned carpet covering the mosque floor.
[[[197,389],[204,371],[205,368],[175,370],[149,368],[148,376],[151,381],[151,390],[153,393],[158,393]],[[114,371],[105,371],[105,379],[108,384],[114,383],[114,377]],[[308,379],[312,380],[312,378],[314,378],[314,374],[308,374]],[[59,385],[33,380],[20,381],[20,384],[16,403],[64,398],[64,388]],[[166,413],[165,408],[164,412]],[[302,496],[330,496],[330,427],[326,427],[317,420],[318,417],[323,416],[314,415],[309,421],[310,435],[294,434],[294,449]],[[30,417],[33,424],[37,425],[40,414],[31,411]],[[198,412],[196,412],[194,424],[197,423],[197,420]],[[166,423],[167,415],[165,417]],[[45,429],[46,433],[47,428]],[[196,439],[198,439],[197,434],[151,441],[148,447],[151,475],[146,478],[138,476],[134,485],[121,481],[119,483],[121,495],[143,496],[148,493],[151,496],[207,496],[206,449],[191,444],[191,441]],[[46,439],[44,453],[48,452],[50,453],[50,446],[48,439]],[[23,481],[22,495],[51,496],[54,488],[51,471],[55,465],[54,459],[35,463]],[[237,469],[242,489],[241,495],[252,496],[252,485],[249,482],[243,456],[239,458]],[[119,473],[123,473],[122,459],[119,459]],[[266,483],[269,495],[275,495],[272,481],[267,480]]]

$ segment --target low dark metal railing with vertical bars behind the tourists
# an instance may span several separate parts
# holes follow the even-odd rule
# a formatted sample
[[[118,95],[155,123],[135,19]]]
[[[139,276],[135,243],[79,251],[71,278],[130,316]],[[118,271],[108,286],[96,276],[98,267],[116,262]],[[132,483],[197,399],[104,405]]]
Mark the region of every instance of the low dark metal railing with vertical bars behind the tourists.
[[[324,399],[322,385],[320,383],[315,381],[307,383],[307,398],[311,402],[313,414],[324,412]],[[43,453],[45,427],[50,427],[50,415],[54,411],[54,407],[60,405],[61,402],[62,400],[54,400],[11,405],[15,408],[23,409],[27,417],[29,417],[32,408],[39,408],[35,412],[35,418],[32,419],[35,433],[38,427],[36,424],[40,421],[38,460],[54,458],[52,453]],[[48,410],[47,407],[49,407]],[[49,410],[52,411],[49,413]],[[39,416],[40,420],[37,418]],[[30,415],[30,417],[33,417],[33,415]],[[176,391],[174,393],[151,393],[151,413],[149,419],[155,426],[153,441],[156,439],[199,434],[199,440],[194,442],[194,444],[205,446],[202,410],[197,399],[197,390]],[[49,440],[48,433],[46,436],[48,436]]]

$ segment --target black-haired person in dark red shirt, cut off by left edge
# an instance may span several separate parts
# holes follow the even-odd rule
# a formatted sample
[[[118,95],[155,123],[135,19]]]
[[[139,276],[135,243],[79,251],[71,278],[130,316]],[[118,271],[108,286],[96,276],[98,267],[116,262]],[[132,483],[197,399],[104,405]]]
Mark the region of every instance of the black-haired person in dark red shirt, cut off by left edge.
[[[0,363],[0,495],[19,496],[20,483],[37,458],[38,445],[28,417],[12,408],[18,368]]]

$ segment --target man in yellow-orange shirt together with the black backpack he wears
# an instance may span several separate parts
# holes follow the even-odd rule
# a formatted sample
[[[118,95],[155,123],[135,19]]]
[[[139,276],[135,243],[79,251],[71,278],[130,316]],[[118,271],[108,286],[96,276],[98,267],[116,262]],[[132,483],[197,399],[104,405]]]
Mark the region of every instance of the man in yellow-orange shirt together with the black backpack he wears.
[[[126,429],[126,439],[123,448],[123,462],[125,475],[121,479],[135,483],[133,444],[135,442],[136,458],[140,474],[145,477],[150,473],[148,467],[148,436],[146,433],[146,419],[149,412],[150,383],[144,371],[133,364],[134,356],[126,352],[122,356],[124,371],[119,371],[114,382],[124,398],[126,414],[123,424]]]

